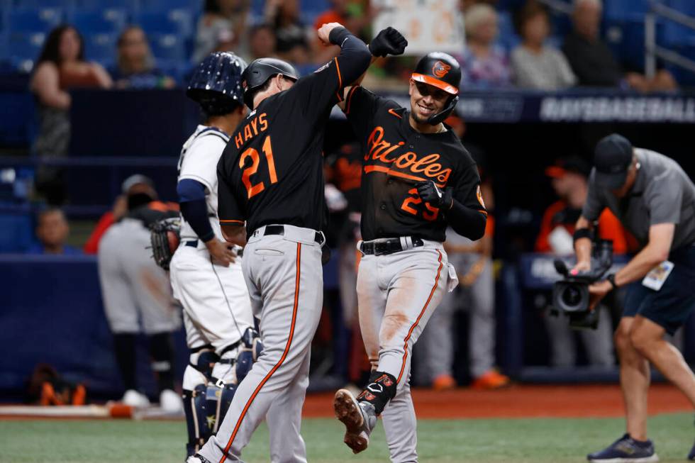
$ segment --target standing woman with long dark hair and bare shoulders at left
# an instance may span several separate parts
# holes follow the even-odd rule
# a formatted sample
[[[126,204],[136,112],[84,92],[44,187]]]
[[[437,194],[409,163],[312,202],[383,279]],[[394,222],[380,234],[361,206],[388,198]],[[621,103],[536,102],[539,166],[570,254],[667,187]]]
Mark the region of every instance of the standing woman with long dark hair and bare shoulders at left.
[[[32,151],[38,156],[67,155],[70,143],[70,94],[75,87],[111,87],[101,65],[84,60],[84,41],[72,26],[53,29],[33,69],[29,88],[38,102],[39,130]],[[51,205],[65,201],[62,170],[41,166],[36,188]]]

